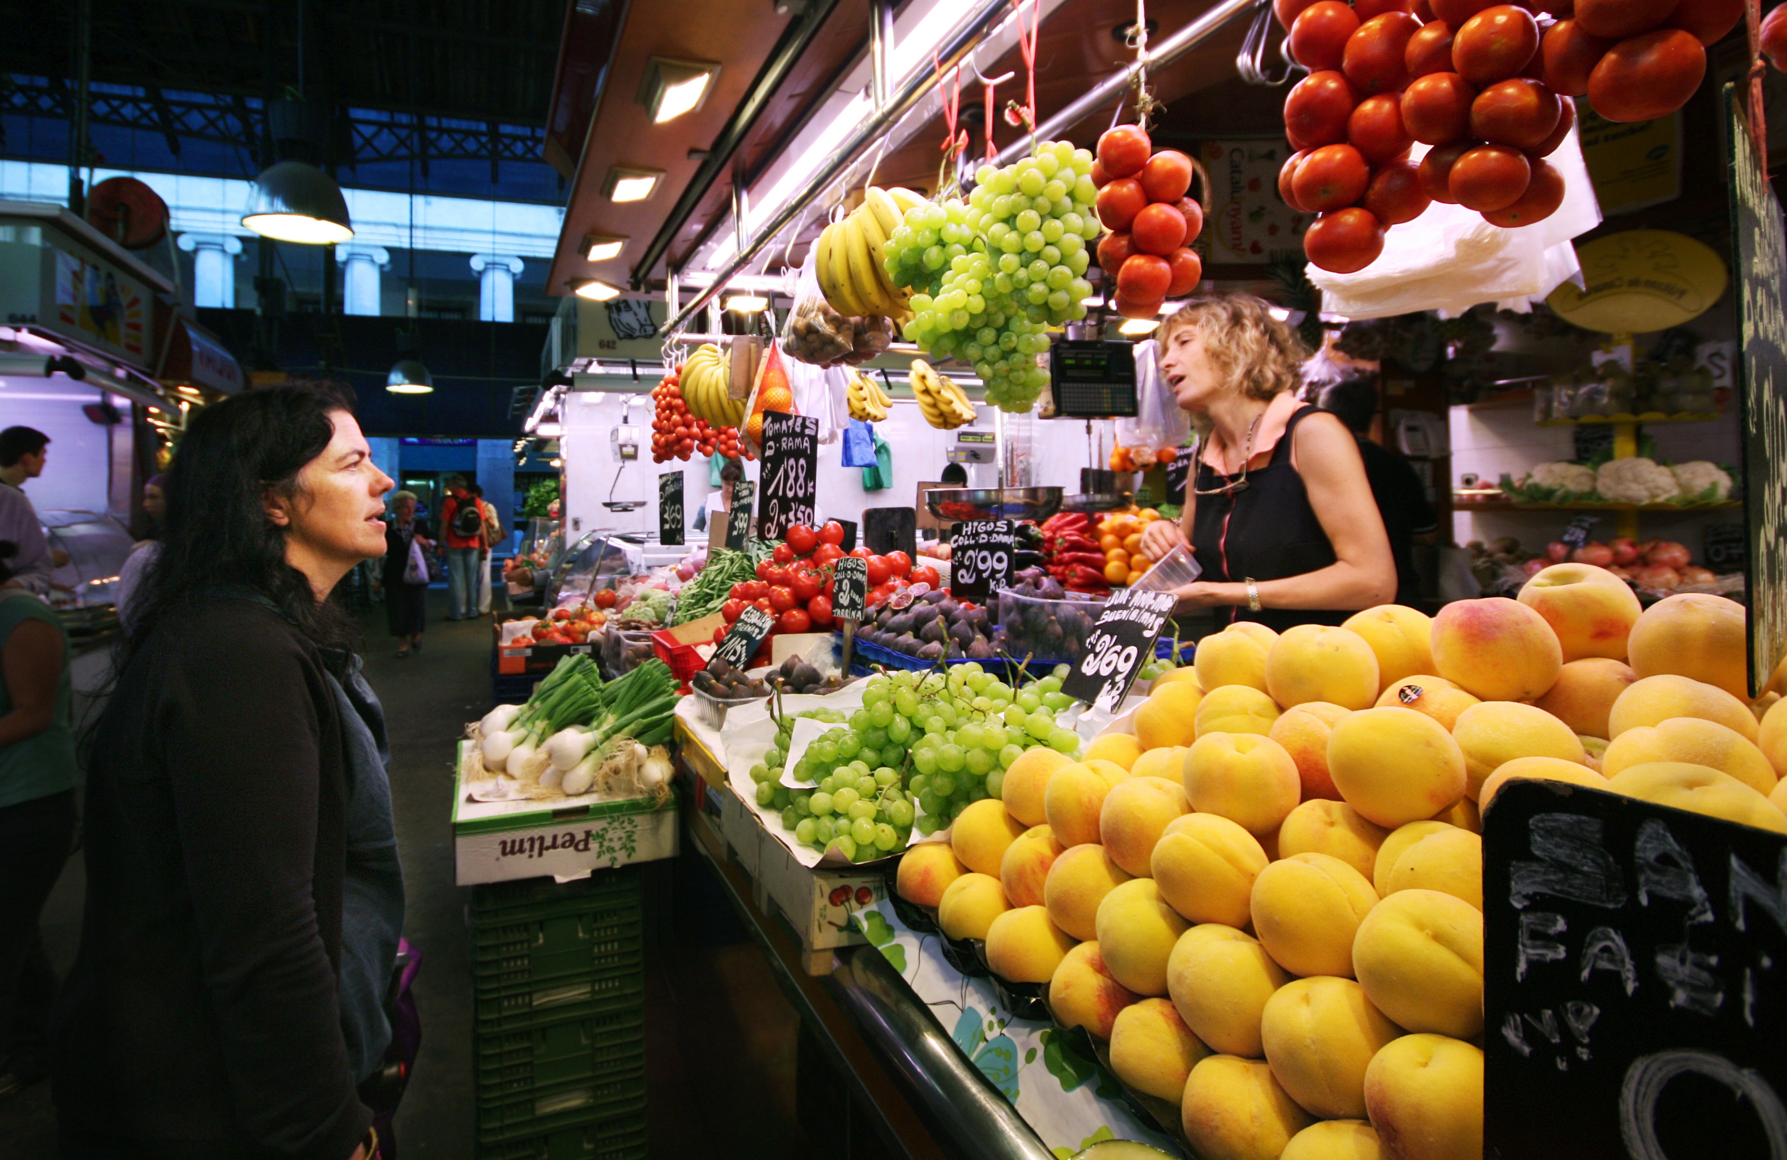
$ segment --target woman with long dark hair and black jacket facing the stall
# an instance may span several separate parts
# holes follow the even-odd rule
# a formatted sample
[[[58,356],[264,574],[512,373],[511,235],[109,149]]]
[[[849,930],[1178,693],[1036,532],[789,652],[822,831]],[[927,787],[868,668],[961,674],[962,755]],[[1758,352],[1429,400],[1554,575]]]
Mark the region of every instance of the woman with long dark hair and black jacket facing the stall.
[[[91,738],[63,1156],[375,1153],[402,874],[384,722],[329,593],[384,554],[390,490],[316,388],[236,395],[180,441]]]

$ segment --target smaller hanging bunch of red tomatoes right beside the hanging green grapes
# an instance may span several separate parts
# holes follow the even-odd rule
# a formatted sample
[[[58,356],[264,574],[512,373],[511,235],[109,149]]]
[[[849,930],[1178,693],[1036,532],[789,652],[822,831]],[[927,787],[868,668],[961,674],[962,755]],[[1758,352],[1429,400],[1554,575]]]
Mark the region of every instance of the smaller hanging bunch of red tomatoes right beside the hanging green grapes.
[[[1092,184],[1099,222],[1099,266],[1112,277],[1112,307],[1126,318],[1153,318],[1160,304],[1192,293],[1204,265],[1190,245],[1204,229],[1204,209],[1185,193],[1192,159],[1176,148],[1154,152],[1140,125],[1117,125],[1099,138]]]

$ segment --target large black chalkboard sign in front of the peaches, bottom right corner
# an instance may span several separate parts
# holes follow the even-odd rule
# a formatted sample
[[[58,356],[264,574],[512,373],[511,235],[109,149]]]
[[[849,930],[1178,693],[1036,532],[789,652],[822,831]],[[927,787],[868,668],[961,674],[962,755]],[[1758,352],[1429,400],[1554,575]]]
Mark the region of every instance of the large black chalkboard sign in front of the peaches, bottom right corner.
[[[1556,781],[1483,815],[1483,1155],[1787,1155],[1787,835]]]

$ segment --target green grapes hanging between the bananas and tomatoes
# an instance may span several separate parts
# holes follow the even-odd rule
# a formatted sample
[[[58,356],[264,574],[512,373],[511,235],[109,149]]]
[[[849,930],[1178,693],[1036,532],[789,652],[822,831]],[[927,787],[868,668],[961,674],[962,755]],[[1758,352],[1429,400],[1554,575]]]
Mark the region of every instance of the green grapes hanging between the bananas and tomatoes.
[[[1092,152],[1042,145],[1004,168],[983,164],[967,202],[915,206],[888,238],[892,279],[913,290],[904,338],[974,366],[986,400],[1029,411],[1049,372],[1051,325],[1086,316],[1094,213]]]

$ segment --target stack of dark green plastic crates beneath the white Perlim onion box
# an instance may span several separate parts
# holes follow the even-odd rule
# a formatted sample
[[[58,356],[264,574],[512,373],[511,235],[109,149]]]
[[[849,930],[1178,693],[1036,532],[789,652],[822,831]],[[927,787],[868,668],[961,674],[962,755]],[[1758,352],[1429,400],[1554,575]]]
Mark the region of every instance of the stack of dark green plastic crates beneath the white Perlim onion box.
[[[479,1160],[645,1156],[640,869],[475,887]]]

